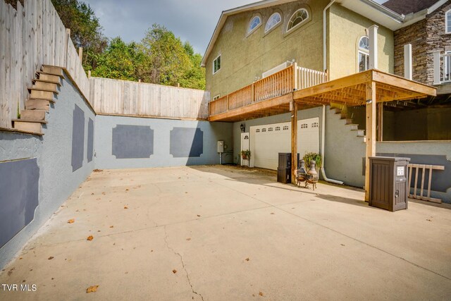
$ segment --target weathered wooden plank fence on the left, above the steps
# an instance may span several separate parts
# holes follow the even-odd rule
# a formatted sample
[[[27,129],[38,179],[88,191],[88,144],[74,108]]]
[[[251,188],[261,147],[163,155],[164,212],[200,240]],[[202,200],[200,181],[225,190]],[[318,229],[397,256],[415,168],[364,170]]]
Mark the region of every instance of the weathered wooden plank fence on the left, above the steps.
[[[0,0],[0,128],[24,109],[36,71],[42,65],[66,68],[80,91],[89,81],[77,51],[50,0],[25,0],[17,10]]]

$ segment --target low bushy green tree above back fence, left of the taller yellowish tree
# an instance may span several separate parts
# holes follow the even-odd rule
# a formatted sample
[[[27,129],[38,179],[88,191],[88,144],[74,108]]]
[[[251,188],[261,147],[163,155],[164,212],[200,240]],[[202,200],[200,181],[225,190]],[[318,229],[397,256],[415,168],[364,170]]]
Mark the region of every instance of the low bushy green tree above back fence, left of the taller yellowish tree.
[[[108,47],[97,56],[97,68],[92,76],[115,78],[118,80],[138,80],[137,68],[144,60],[137,44],[123,42],[121,37],[111,39]]]

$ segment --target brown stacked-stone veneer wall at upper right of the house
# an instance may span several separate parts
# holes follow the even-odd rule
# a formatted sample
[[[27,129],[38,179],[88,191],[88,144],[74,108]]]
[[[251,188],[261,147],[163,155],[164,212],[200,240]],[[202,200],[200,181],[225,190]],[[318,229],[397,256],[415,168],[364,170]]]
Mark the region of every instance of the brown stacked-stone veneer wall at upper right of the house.
[[[395,74],[404,76],[404,45],[412,44],[413,80],[433,83],[433,51],[451,51],[451,34],[445,33],[447,1],[426,19],[395,31]]]

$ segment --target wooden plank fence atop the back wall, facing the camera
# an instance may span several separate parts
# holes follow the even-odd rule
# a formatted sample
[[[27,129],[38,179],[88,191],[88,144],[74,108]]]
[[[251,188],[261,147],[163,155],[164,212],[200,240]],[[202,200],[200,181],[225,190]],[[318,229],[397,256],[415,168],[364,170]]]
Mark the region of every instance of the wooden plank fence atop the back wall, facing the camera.
[[[209,92],[144,82],[89,78],[89,101],[104,114],[208,118]]]

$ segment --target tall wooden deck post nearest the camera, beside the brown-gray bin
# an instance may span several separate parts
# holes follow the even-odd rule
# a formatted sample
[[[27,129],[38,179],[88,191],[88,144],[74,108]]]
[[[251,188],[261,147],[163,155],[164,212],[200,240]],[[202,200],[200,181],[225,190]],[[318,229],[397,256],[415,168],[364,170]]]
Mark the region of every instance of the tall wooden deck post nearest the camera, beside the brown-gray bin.
[[[369,157],[376,155],[376,82],[366,83],[365,201],[369,200]]]

